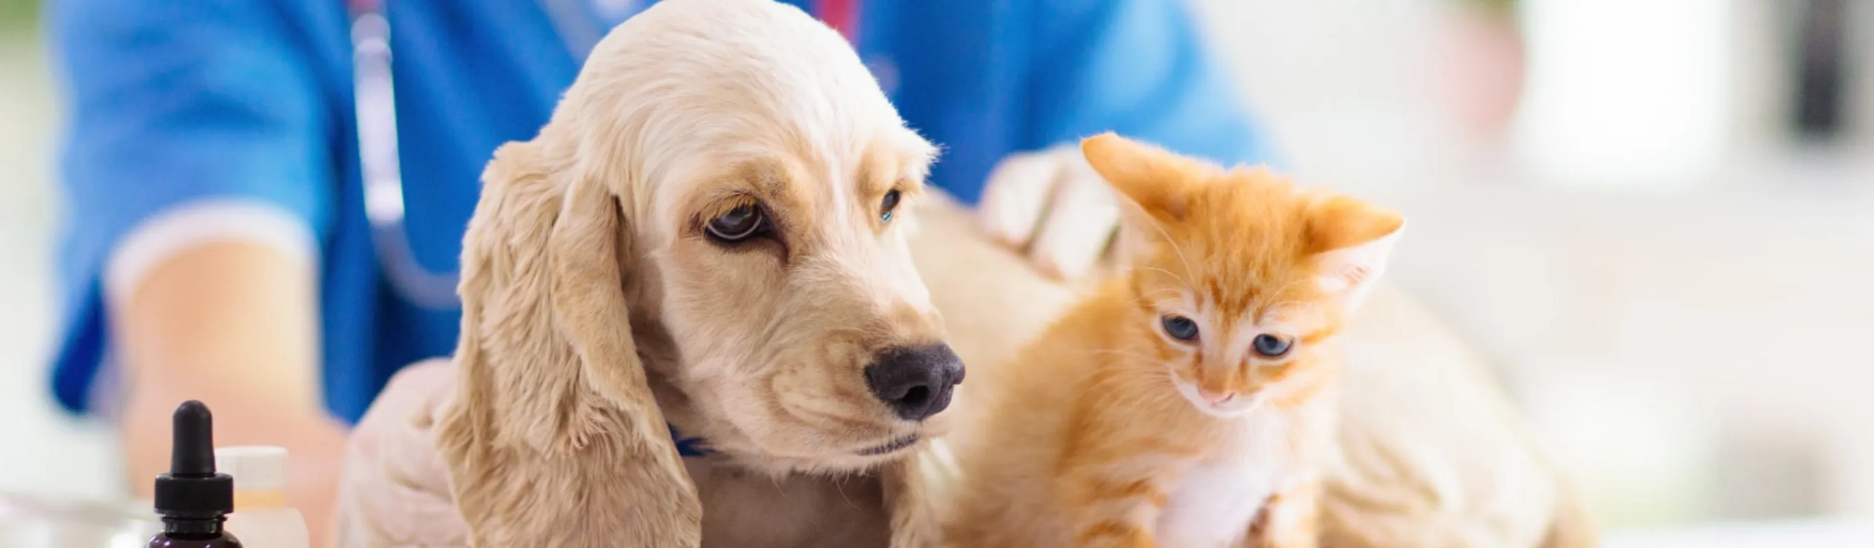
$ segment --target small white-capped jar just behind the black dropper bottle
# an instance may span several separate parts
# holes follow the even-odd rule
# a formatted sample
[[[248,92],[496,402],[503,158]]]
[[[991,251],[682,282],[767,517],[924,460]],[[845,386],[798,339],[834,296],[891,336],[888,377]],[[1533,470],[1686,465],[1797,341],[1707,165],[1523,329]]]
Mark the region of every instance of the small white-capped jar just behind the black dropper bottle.
[[[309,548],[305,518],[287,505],[287,449],[242,445],[216,449],[216,471],[234,477],[234,512],[227,529],[247,548]]]

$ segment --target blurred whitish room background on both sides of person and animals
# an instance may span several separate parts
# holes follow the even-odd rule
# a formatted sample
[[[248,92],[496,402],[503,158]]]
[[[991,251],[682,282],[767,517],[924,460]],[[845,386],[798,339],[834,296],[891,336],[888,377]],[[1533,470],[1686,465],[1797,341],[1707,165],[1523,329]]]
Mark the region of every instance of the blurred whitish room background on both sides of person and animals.
[[[1621,546],[1874,546],[1874,2],[1192,4],[1291,172],[1406,209],[1394,281]],[[45,391],[36,11],[0,0],[0,492],[120,498]]]

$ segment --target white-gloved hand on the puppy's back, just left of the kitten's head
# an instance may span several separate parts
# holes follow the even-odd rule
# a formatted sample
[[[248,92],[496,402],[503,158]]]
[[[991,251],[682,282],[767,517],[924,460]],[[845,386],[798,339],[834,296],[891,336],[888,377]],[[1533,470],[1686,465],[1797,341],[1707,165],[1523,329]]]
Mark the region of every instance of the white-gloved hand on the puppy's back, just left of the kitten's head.
[[[1044,273],[1093,271],[1119,228],[1119,198],[1076,146],[1019,151],[989,172],[978,215],[989,236],[1023,249]]]

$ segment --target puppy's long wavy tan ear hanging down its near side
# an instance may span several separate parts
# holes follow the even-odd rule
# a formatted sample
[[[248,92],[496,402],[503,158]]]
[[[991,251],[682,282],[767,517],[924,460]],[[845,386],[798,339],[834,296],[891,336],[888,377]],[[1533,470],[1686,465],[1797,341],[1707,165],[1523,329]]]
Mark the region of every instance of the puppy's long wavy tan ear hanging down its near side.
[[[483,172],[437,445],[476,546],[697,546],[701,505],[632,340],[618,200],[551,127]]]

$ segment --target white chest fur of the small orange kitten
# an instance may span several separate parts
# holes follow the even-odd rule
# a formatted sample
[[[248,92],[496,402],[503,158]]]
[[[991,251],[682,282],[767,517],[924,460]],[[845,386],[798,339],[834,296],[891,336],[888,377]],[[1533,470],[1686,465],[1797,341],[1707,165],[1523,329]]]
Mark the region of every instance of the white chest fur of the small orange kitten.
[[[1239,436],[1218,456],[1196,462],[1168,492],[1160,546],[1239,546],[1269,496],[1295,479],[1287,425],[1276,413],[1237,419]]]

